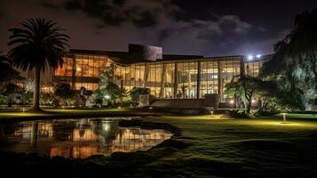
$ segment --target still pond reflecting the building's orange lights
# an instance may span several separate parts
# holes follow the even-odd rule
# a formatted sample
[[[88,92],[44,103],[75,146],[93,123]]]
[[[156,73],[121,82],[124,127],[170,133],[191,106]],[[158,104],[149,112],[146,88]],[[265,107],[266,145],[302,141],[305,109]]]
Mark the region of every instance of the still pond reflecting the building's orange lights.
[[[148,150],[171,135],[162,129],[120,127],[109,118],[40,120],[0,125],[0,150],[87,158]]]

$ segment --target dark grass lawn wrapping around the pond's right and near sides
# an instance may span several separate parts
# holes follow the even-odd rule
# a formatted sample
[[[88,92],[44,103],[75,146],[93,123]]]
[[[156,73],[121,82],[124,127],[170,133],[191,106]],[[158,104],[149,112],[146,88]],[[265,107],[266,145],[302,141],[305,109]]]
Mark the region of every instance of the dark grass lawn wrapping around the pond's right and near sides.
[[[145,117],[182,131],[148,151],[85,160],[2,153],[1,167],[74,177],[317,177],[316,121],[219,117]]]

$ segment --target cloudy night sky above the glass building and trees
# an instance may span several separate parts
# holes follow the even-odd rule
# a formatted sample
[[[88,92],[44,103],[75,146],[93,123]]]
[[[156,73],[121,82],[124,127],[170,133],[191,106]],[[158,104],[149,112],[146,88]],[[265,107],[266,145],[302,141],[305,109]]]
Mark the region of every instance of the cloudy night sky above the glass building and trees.
[[[204,56],[272,53],[295,16],[316,0],[0,0],[0,51],[8,28],[45,17],[71,36],[71,48],[127,51],[153,44],[163,53]]]

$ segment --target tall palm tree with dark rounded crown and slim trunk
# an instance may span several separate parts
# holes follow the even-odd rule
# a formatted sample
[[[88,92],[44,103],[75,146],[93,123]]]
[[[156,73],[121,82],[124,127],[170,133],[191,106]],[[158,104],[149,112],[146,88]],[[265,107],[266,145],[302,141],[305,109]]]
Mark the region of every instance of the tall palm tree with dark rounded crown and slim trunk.
[[[24,71],[35,69],[35,91],[33,109],[39,107],[41,70],[62,66],[69,36],[62,33],[63,28],[57,27],[52,20],[43,18],[29,19],[20,23],[21,28],[11,28],[10,42],[14,47],[9,52],[13,66]]]

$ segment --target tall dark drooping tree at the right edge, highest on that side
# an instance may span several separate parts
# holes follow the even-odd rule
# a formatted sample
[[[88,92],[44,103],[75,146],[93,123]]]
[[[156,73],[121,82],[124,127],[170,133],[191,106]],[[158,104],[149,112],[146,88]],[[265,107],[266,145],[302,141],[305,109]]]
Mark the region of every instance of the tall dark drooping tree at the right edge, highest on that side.
[[[298,110],[303,109],[299,101],[317,97],[317,9],[297,15],[294,25],[289,35],[274,45],[275,53],[260,75],[278,81],[283,91],[279,94],[281,104]]]

